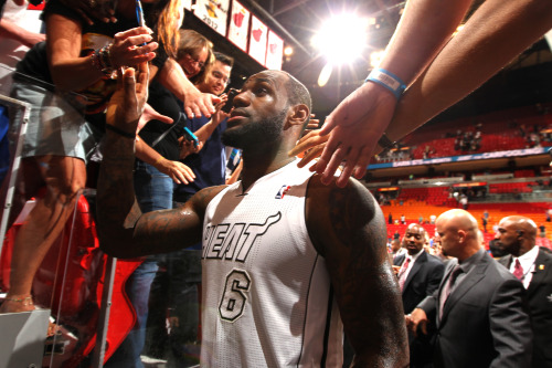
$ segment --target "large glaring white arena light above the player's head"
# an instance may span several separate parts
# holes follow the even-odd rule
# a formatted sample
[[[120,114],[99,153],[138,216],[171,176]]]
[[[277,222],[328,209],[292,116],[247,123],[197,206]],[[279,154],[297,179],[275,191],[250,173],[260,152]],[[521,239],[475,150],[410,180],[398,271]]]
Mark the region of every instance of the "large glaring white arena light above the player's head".
[[[312,38],[312,45],[333,65],[350,63],[367,46],[368,24],[369,19],[353,13],[335,15]]]

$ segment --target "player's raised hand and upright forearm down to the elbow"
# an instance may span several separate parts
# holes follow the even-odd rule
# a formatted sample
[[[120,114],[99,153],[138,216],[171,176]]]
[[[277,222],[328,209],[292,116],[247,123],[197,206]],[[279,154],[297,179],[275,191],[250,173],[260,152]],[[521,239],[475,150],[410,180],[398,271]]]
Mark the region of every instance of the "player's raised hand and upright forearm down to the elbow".
[[[119,71],[120,72],[120,71]],[[102,248],[115,256],[116,242],[131,244],[141,215],[132,186],[136,128],[148,97],[148,66],[125,71],[117,82],[106,113],[106,137],[97,190],[98,238]],[[113,129],[118,129],[114,132]]]

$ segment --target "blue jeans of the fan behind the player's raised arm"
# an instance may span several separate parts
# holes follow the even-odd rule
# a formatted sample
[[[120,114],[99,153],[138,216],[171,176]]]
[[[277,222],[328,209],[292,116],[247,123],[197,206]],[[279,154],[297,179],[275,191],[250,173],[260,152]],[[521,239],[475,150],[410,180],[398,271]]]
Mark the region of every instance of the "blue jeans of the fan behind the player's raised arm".
[[[135,192],[142,212],[172,208],[172,179],[142,161],[136,162]],[[140,353],[146,343],[149,292],[158,270],[158,257],[150,256],[128,277],[125,290],[136,309],[137,320],[104,367],[144,367]]]

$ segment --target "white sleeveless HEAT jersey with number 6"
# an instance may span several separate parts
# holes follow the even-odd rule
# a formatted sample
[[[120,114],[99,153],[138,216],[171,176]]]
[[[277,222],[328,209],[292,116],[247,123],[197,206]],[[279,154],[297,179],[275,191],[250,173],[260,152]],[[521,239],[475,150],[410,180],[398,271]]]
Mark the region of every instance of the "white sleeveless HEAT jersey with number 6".
[[[294,161],[209,204],[202,367],[342,366],[341,318],[305,223],[311,175]]]

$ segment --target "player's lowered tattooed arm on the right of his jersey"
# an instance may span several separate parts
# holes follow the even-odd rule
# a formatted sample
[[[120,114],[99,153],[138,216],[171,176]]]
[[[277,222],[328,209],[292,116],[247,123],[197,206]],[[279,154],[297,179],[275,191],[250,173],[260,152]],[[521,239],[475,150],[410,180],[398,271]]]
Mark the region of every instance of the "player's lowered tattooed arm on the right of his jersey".
[[[406,338],[401,335],[405,334],[403,311],[386,254],[385,219],[373,197],[358,181],[350,180],[346,188],[328,190],[328,220],[322,225],[329,228],[325,232],[329,241],[320,242],[325,243],[326,262],[346,333],[353,346],[372,346],[373,351],[378,351],[372,358],[401,357],[407,346],[396,344],[397,336],[403,337],[401,341]],[[385,328],[389,334],[378,338],[365,334],[367,326],[381,328],[382,322],[389,324]],[[385,350],[390,347],[394,349],[391,355]],[[357,359],[353,366],[368,364],[359,354]],[[381,366],[388,364],[380,362]]]

